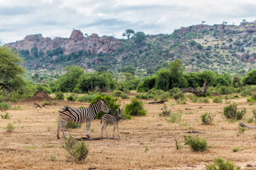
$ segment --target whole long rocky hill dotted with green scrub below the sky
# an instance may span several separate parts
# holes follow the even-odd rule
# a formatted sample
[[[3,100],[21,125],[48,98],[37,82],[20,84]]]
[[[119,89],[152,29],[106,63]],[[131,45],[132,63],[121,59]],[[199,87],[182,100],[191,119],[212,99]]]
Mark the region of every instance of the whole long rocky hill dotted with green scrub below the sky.
[[[73,30],[69,38],[51,40],[28,35],[24,40],[5,44],[20,50],[28,69],[60,69],[81,65],[86,69],[110,66],[112,71],[132,65],[137,72],[154,71],[166,62],[180,59],[186,71],[209,69],[219,72],[245,72],[256,67],[256,22],[240,25],[192,25],[172,34],[146,35],[138,44],[129,40],[92,34],[84,37]],[[140,71],[141,70],[141,71]]]

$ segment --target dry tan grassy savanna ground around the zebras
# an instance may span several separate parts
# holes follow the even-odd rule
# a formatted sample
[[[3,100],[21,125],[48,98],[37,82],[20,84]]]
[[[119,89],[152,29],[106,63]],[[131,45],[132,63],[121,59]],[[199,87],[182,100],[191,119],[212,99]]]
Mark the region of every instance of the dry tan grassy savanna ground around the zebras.
[[[134,96],[130,96],[130,99],[121,99],[122,106],[130,103],[131,97]],[[245,133],[237,135],[238,122],[230,122],[223,118],[223,107],[227,105],[225,102],[217,104],[212,103],[210,99],[210,103],[193,103],[189,100],[183,105],[171,99],[166,102],[168,108],[173,107],[173,112],[183,112],[180,123],[168,123],[165,117],[159,117],[163,104],[147,104],[149,100],[143,102],[148,112],[146,116],[121,120],[120,139],[87,141],[89,154],[80,163],[67,160],[67,152],[61,148],[64,139],[57,140],[56,117],[59,106],[32,108],[33,102],[13,103],[12,107],[19,105],[20,108],[8,110],[10,119],[0,119],[0,169],[87,170],[96,167],[97,170],[195,170],[205,169],[205,163],[212,163],[214,158],[231,160],[241,166],[241,169],[246,169],[246,164],[250,163],[253,167],[248,169],[256,169],[256,130],[246,130]],[[233,99],[231,102],[237,102],[239,108],[246,107],[245,117],[252,116],[255,102],[249,105],[246,97]],[[89,103],[69,101],[61,101],[59,104],[61,107],[89,106]],[[205,112],[216,114],[213,125],[202,125],[200,115]],[[3,129],[9,122],[15,122],[16,127],[11,133]],[[248,125],[255,126],[255,122]],[[94,120],[91,129],[92,138],[100,137],[100,120]],[[198,136],[205,138],[212,148],[206,152],[194,152],[185,145],[182,150],[176,150],[174,138],[183,145],[183,135],[192,130],[203,132]],[[70,130],[70,133],[75,138],[85,137],[85,125]],[[108,127],[108,133],[112,137],[113,126]],[[66,135],[69,136],[67,131]],[[46,145],[53,146],[47,148]],[[234,153],[231,149],[238,146],[241,150]],[[51,156],[56,159],[51,161]]]

